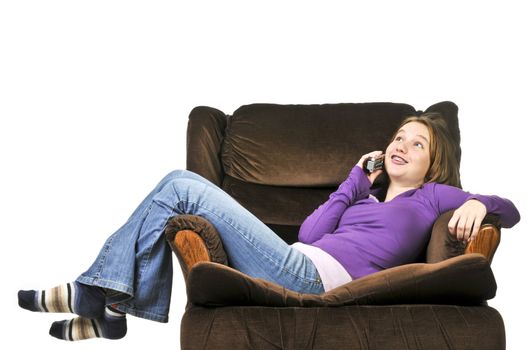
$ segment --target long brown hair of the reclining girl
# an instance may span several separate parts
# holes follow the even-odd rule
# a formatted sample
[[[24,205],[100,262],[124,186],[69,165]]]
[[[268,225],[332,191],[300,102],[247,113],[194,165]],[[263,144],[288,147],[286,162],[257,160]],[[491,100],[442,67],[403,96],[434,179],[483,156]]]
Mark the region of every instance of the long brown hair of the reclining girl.
[[[425,183],[437,182],[461,187],[459,162],[455,156],[459,145],[450,136],[443,116],[437,112],[410,116],[399,125],[391,141],[395,139],[397,132],[410,122],[423,124],[428,128],[428,133],[430,134],[430,168],[425,175]]]

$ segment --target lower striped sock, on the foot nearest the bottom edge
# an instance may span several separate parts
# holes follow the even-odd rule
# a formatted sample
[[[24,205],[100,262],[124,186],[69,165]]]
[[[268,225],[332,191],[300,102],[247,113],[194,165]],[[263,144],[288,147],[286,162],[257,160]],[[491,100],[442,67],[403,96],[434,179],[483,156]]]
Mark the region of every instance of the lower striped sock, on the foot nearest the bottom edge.
[[[97,319],[77,317],[53,322],[49,334],[68,341],[90,338],[121,339],[126,335],[126,314],[107,306],[104,315]]]

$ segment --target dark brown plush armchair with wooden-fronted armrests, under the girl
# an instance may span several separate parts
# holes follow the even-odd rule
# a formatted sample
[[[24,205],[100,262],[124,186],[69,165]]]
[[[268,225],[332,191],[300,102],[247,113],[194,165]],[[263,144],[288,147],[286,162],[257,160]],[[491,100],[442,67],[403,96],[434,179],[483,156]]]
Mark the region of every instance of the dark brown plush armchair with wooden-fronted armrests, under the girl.
[[[426,111],[441,112],[459,144],[457,106],[441,102]],[[252,104],[233,115],[196,107],[189,116],[187,169],[293,243],[303,220],[357,159],[385,149],[402,119],[415,113],[397,103]],[[460,161],[460,148],[456,157]],[[503,320],[486,302],[496,292],[490,261],[499,218],[489,215],[466,247],[448,233],[451,215],[437,220],[421,261],[321,295],[235,271],[210,223],[175,216],[165,234],[187,286],[181,348],[504,349]]]

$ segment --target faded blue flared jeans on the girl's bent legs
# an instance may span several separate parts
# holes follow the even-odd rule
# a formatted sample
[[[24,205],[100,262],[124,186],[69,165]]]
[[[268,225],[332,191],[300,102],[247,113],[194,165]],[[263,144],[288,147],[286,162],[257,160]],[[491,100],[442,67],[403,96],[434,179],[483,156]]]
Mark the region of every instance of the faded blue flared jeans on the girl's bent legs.
[[[163,231],[168,219],[178,214],[211,222],[233,268],[294,291],[324,291],[309,258],[222,189],[187,170],[173,171],[161,180],[77,281],[110,289],[107,303],[117,303],[123,312],[168,322],[172,251]]]

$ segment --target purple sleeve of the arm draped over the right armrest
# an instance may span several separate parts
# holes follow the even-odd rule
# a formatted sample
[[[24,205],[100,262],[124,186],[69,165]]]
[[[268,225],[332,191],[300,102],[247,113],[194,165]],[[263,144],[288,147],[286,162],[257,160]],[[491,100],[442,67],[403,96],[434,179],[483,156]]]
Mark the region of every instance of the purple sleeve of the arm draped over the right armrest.
[[[466,201],[476,199],[485,205],[487,213],[496,214],[500,217],[503,227],[511,228],[520,221],[518,209],[506,198],[471,194],[457,187],[441,184],[435,185],[434,197],[439,214],[457,209]]]

